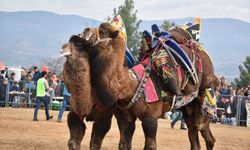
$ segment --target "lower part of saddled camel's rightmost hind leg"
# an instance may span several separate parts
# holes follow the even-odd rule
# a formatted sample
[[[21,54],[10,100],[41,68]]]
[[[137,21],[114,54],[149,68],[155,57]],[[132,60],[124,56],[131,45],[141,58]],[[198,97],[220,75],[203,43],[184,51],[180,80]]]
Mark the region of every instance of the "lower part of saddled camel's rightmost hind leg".
[[[209,127],[209,124],[203,130],[201,130],[200,132],[201,132],[202,137],[206,141],[207,150],[212,150],[216,140],[215,140],[215,138],[214,138],[214,136],[212,134],[212,131],[211,131],[210,127]]]

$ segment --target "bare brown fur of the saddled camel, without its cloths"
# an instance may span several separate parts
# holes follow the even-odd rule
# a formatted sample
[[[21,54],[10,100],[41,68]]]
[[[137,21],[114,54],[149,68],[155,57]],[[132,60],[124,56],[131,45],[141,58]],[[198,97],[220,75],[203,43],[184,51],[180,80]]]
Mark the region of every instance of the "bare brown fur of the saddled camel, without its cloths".
[[[104,104],[112,105],[115,102],[118,104],[114,113],[120,129],[119,149],[131,149],[131,140],[137,117],[142,121],[145,135],[144,149],[157,149],[157,119],[171,109],[173,94],[168,95],[170,100],[160,100],[149,104],[149,107],[144,101],[144,97],[140,97],[140,100],[133,107],[126,109],[137,90],[139,81],[133,77],[132,73],[124,65],[126,45],[119,35],[119,31],[110,24],[103,23],[98,29],[86,29],[83,35],[95,35],[93,36],[94,39],[89,37],[91,41],[94,41],[92,42],[93,49],[89,51],[89,63],[91,77],[95,77],[95,80],[91,80],[91,82],[93,89],[97,92],[97,97]],[[85,38],[85,36],[82,38]],[[184,50],[187,51],[185,48]],[[201,55],[206,55],[206,53]],[[199,89],[199,94],[203,97],[204,90],[215,85],[217,79],[214,76],[212,62],[209,57],[204,57],[202,63],[203,66],[206,66],[206,69],[204,68],[204,72],[198,75],[199,86],[188,83],[183,90],[184,93]],[[182,75],[185,76],[183,70]],[[165,88],[162,86],[161,81],[159,82],[156,73],[153,72],[151,77],[154,79],[157,88]],[[206,141],[207,149],[213,149],[215,139],[209,128],[208,118],[202,115],[201,103],[201,100],[197,99],[182,108],[189,129],[191,149],[200,149],[198,130],[201,131]]]

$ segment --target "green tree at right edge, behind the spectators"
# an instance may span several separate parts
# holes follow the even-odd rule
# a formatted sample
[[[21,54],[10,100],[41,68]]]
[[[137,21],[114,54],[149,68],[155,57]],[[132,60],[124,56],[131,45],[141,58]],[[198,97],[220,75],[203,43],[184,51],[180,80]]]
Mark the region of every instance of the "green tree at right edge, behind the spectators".
[[[250,56],[246,57],[244,66],[240,65],[240,77],[235,78],[235,83],[238,87],[246,87],[250,83]]]

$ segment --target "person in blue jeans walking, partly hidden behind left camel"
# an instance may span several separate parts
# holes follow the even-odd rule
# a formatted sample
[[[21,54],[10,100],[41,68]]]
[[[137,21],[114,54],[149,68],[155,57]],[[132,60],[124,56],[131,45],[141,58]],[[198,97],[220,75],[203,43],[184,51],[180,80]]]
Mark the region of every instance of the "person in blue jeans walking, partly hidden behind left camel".
[[[71,96],[71,94],[68,92],[66,86],[64,85],[64,88],[63,88],[63,104],[62,104],[61,110],[59,112],[57,122],[62,122],[63,112],[65,111],[66,107],[68,107],[70,105],[70,96]]]

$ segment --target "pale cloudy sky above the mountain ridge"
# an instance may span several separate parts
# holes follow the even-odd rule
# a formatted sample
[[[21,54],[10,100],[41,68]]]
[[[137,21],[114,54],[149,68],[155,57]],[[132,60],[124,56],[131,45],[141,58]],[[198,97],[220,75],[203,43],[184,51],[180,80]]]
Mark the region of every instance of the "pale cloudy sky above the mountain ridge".
[[[142,20],[185,17],[234,18],[250,22],[250,0],[134,0]],[[44,10],[103,21],[124,0],[0,0],[0,11]]]

